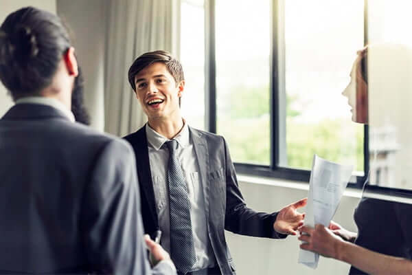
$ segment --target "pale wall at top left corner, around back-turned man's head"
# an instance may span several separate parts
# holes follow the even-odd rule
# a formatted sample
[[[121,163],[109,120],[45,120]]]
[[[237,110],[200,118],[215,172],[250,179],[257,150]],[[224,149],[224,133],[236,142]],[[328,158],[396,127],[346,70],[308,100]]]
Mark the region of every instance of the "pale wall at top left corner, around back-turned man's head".
[[[27,5],[32,5],[33,7],[56,13],[56,0],[1,0],[0,22],[3,23],[5,17],[11,12]],[[8,96],[7,90],[0,83],[0,117],[12,106],[12,104],[12,98]]]

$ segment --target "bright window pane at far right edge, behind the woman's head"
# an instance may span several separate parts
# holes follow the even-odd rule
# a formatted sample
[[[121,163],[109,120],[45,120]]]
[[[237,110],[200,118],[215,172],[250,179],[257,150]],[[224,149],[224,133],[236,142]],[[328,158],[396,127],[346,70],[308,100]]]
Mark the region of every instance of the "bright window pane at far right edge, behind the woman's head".
[[[369,1],[370,184],[412,189],[411,1]]]

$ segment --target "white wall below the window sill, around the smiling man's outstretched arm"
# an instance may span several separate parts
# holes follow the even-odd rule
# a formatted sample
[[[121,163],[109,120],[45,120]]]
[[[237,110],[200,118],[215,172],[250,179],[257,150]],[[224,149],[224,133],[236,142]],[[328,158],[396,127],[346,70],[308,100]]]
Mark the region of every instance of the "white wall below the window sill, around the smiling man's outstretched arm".
[[[240,182],[247,205],[254,210],[273,212],[298,199],[307,197],[307,190]],[[356,231],[353,221],[357,198],[343,197],[334,221]],[[301,212],[304,212],[302,208]],[[317,270],[297,263],[299,243],[296,236],[284,240],[260,239],[226,233],[238,275],[317,274],[347,275],[350,265],[321,257]]]

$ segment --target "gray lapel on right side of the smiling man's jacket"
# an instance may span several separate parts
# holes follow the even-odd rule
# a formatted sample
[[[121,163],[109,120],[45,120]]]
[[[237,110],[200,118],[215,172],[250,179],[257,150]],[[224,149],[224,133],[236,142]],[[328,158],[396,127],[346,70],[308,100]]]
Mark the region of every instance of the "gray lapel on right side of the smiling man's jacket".
[[[206,219],[209,219],[209,149],[205,138],[202,138],[202,133],[189,127],[192,137],[194,152],[198,159],[199,170],[201,171],[201,182],[203,186],[203,196],[205,197],[205,212]]]

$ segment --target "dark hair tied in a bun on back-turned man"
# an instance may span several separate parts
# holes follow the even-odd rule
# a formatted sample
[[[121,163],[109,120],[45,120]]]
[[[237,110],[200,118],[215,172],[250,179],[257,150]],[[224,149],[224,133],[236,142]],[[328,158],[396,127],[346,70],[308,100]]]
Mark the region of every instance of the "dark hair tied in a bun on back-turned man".
[[[14,100],[52,83],[71,43],[59,17],[33,7],[9,14],[0,27],[0,80]]]

